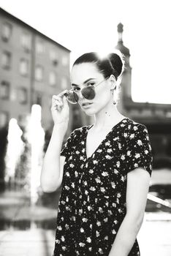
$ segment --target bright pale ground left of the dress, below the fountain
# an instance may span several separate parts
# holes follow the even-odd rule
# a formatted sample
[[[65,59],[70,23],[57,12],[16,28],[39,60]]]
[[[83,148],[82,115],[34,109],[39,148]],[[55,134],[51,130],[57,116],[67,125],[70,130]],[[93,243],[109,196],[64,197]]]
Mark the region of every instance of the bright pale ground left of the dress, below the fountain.
[[[52,230],[0,231],[0,255],[52,256],[54,236]]]

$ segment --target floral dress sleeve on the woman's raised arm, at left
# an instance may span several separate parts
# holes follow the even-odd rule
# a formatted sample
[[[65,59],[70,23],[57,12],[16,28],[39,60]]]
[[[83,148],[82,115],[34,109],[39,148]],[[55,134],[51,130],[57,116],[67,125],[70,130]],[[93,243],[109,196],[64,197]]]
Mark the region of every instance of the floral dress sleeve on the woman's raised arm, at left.
[[[77,129],[75,129],[67,138],[66,143],[61,149],[61,156],[70,157],[72,155],[72,151],[75,149],[77,143]]]

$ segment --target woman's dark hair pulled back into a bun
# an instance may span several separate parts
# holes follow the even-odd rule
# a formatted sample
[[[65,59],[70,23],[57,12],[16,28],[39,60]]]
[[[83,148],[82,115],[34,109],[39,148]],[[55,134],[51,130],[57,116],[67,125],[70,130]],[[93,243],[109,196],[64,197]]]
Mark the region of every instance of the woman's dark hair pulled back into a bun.
[[[108,78],[110,75],[115,76],[115,80],[122,74],[124,69],[124,59],[123,54],[109,53],[104,58],[101,58],[98,53],[84,53],[74,62],[74,65],[82,63],[94,63],[99,69],[99,72],[102,72],[104,78]]]

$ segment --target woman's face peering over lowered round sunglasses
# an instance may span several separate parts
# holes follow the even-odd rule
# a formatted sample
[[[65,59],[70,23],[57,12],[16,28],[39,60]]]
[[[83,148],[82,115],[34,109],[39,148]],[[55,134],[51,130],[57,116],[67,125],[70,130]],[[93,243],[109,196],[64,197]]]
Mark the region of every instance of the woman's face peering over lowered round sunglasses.
[[[100,83],[102,82],[102,83]],[[96,84],[99,86],[96,86]],[[82,110],[88,115],[92,116],[102,110],[109,102],[113,102],[111,92],[110,78],[105,80],[101,72],[96,68],[96,64],[83,63],[72,67],[71,85],[75,92],[79,95],[78,103]],[[80,93],[80,89],[87,86],[95,85],[94,99],[86,99]],[[83,105],[84,103],[91,103],[90,105]]]

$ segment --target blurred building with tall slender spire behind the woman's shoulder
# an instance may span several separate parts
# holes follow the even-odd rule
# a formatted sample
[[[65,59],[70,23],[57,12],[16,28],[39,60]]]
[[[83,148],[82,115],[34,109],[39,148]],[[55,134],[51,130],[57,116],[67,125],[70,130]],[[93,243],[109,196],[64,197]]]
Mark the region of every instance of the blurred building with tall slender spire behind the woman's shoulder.
[[[129,49],[123,45],[123,25],[118,24],[116,49],[125,56],[126,69],[123,72],[118,109],[124,116],[145,124],[153,148],[153,167],[171,167],[171,104],[134,102],[132,100],[132,67],[129,64]]]

